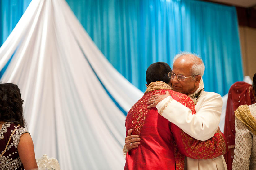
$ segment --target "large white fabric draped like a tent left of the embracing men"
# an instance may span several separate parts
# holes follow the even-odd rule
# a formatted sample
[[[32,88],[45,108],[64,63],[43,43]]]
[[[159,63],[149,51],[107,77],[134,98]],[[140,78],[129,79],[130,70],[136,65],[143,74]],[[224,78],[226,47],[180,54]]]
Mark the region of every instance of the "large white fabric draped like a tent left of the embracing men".
[[[0,70],[1,82],[20,87],[37,158],[55,157],[68,170],[124,168],[124,112],[143,93],[111,66],[65,0],[32,0],[0,48]]]

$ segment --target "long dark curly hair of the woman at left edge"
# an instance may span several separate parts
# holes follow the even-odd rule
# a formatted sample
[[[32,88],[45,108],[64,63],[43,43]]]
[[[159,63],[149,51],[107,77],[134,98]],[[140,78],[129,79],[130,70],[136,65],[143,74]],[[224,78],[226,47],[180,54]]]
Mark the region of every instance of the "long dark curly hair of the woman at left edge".
[[[24,127],[23,99],[20,89],[12,83],[0,84],[0,120],[13,122]]]

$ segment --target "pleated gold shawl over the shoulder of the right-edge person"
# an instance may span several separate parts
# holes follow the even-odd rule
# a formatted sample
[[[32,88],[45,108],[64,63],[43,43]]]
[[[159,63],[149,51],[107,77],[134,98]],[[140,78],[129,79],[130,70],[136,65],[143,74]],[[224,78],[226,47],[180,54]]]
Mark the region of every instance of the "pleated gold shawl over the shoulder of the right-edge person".
[[[239,106],[235,111],[235,116],[256,135],[256,120],[251,115],[250,109],[247,105]]]

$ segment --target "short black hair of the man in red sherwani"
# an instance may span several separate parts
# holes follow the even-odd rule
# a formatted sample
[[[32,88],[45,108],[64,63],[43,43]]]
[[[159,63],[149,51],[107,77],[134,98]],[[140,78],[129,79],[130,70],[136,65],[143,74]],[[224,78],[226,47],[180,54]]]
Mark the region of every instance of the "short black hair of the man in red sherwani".
[[[151,64],[146,71],[147,84],[149,85],[155,81],[163,81],[168,84],[170,82],[168,72],[171,71],[172,69],[167,63],[156,62]]]

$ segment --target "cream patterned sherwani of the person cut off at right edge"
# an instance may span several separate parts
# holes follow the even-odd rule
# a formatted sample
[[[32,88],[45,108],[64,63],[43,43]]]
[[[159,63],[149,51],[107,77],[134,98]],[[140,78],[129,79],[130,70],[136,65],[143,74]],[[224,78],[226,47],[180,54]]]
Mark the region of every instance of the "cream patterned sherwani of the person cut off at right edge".
[[[256,103],[248,106],[256,119]],[[256,127],[254,127],[256,130]],[[234,150],[233,170],[256,169],[256,134],[235,116],[236,147]]]

